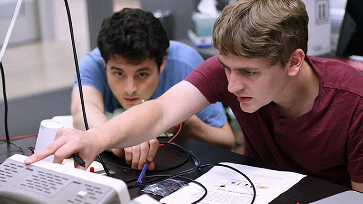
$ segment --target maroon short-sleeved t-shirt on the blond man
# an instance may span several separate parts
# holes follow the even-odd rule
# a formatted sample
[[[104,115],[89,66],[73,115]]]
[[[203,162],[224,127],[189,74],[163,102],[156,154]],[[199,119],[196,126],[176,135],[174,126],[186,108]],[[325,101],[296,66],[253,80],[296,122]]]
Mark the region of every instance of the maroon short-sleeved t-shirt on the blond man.
[[[231,107],[246,156],[348,187],[350,178],[363,183],[363,74],[343,62],[307,56],[320,77],[319,94],[311,111],[286,119],[271,103],[255,113],[243,112],[227,90],[217,58],[203,62],[185,80],[209,102]]]

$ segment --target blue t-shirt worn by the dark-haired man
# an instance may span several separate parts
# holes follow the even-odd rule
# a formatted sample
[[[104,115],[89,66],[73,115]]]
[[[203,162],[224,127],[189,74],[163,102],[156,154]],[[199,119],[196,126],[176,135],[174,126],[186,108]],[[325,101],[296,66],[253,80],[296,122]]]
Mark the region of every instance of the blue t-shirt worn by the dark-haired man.
[[[182,81],[201,62],[203,62],[203,58],[194,49],[181,42],[170,41],[165,68],[159,75],[159,85],[150,99],[158,98],[170,87]],[[107,83],[103,58],[98,48],[86,53],[79,59],[79,70],[82,85],[92,86],[101,92],[105,111],[113,113],[115,109],[121,107]],[[73,87],[77,86],[76,76]],[[208,125],[215,127],[221,127],[227,121],[223,105],[220,102],[209,105],[196,115]]]

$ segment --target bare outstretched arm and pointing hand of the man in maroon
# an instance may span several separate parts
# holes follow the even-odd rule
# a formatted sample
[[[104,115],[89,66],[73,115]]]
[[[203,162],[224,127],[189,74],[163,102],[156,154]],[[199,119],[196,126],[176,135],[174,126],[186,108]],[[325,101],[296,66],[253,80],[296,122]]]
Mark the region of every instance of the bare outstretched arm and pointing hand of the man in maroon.
[[[87,131],[61,128],[54,142],[25,162],[31,164],[54,154],[53,162],[61,163],[71,154],[78,154],[85,160],[86,166],[89,166],[102,151],[110,148],[132,147],[156,138],[168,128],[187,120],[209,104],[196,87],[182,81],[158,99],[134,106],[101,126]],[[158,143],[150,144],[150,147],[153,148],[147,154],[148,160],[152,160],[149,157],[155,155]],[[150,151],[154,152],[150,153]],[[85,169],[78,164],[76,167]]]

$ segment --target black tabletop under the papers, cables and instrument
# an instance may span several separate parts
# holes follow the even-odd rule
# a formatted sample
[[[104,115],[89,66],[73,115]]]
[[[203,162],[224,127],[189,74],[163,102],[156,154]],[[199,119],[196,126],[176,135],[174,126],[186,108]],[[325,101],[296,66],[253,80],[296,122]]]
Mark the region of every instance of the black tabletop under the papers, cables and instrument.
[[[20,147],[23,148],[25,155],[29,154],[28,146],[35,146],[36,137],[24,138],[24,139],[16,139],[12,140],[13,143],[16,143]],[[201,164],[217,164],[219,162],[233,162],[238,164],[244,164],[248,166],[254,167],[262,167],[268,168],[272,170],[285,170],[281,167],[275,166],[273,164],[267,164],[261,162],[259,160],[255,160],[249,158],[247,156],[236,154],[231,151],[224,150],[219,147],[215,147],[203,142],[199,142],[193,139],[188,139],[183,136],[179,136],[175,140],[177,144],[184,147],[186,150],[192,150],[193,153],[200,159]],[[8,145],[5,142],[0,143],[0,159],[3,162],[6,158],[13,154],[19,154],[18,148],[13,145]],[[106,162],[107,167],[111,170],[116,171],[113,175],[115,178],[122,179],[124,181],[129,181],[132,179],[137,179],[139,176],[139,170],[130,170],[121,168],[129,167],[124,158],[118,158],[111,154],[110,152],[103,152],[101,154],[102,159]],[[155,171],[147,171],[147,175],[158,175],[158,174],[176,174],[180,171],[187,170],[189,168],[194,167],[194,163],[191,159],[188,159],[184,164],[182,164],[187,159],[187,156],[180,151],[178,148],[172,145],[164,145],[160,147],[156,157],[155,157]],[[111,165],[116,164],[117,166]],[[169,167],[181,166],[169,169],[166,171],[158,171]],[[205,172],[207,172],[210,168],[202,168],[201,171],[194,171],[190,174],[187,174],[188,178],[196,179]],[[129,185],[132,185],[130,183]],[[278,204],[304,204],[311,203],[313,201],[335,195],[339,192],[347,191],[349,188],[333,184],[327,181],[323,181],[321,179],[314,178],[312,176],[306,176],[293,187],[288,189],[286,192],[282,193],[276,199],[274,199],[271,203]],[[140,191],[140,188],[131,188],[129,189],[130,197],[134,198],[139,195],[142,195],[143,192]],[[156,199],[160,197],[152,196]]]

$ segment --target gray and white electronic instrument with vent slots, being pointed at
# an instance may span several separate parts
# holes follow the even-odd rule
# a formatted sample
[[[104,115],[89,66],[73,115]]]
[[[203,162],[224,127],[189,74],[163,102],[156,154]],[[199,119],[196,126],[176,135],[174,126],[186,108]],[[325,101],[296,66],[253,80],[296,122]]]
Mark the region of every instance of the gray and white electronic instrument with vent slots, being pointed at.
[[[125,182],[15,154],[0,165],[0,204],[127,204]]]

